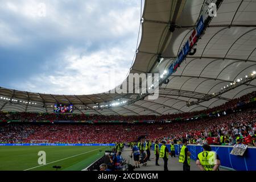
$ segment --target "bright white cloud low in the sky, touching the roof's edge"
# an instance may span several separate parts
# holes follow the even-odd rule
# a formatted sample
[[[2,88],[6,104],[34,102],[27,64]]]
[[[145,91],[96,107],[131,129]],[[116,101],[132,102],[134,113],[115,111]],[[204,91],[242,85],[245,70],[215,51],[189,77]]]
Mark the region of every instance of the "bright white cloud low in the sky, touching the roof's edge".
[[[86,56],[70,48],[59,60],[48,63],[48,67],[54,68],[52,73],[32,77],[24,86],[32,88],[33,92],[53,94],[107,92],[121,84],[129,71],[129,66],[123,63],[133,56],[122,48],[114,47]]]

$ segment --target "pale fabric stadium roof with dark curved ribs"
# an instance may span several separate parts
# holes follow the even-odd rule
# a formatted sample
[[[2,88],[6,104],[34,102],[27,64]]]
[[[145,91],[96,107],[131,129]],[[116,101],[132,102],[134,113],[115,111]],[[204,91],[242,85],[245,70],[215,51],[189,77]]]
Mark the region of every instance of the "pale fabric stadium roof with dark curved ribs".
[[[146,0],[143,11],[142,39],[130,73],[161,73],[177,57],[191,36],[205,2],[184,0]],[[175,31],[169,30],[175,24]],[[224,104],[256,90],[252,80],[209,101],[187,107],[208,94],[256,71],[256,1],[223,1],[204,35],[195,47],[195,55],[188,55],[168,84],[159,88],[156,100],[138,100],[122,106],[95,109],[97,103],[135,100],[138,94],[101,93],[64,96],[22,92],[0,88],[0,96],[19,100],[19,104],[0,99],[1,111],[52,112],[56,103],[75,105],[76,113],[86,114],[172,114],[204,110]],[[158,63],[158,56],[164,59]],[[35,104],[32,104],[36,102]]]

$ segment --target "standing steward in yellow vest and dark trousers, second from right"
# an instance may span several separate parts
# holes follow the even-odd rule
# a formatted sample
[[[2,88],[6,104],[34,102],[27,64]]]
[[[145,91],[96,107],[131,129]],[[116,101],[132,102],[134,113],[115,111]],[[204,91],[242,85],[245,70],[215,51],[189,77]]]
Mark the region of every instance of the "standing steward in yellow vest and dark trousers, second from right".
[[[190,171],[190,156],[191,152],[188,151],[188,140],[182,140],[183,146],[180,150],[179,162],[183,163],[183,171]]]

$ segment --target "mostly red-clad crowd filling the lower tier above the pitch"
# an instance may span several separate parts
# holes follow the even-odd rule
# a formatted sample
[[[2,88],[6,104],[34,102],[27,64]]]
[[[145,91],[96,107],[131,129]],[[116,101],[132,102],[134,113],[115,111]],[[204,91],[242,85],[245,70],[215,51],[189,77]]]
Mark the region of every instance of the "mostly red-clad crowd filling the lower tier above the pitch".
[[[221,117],[176,121],[172,123],[143,124],[33,124],[5,123],[0,125],[0,143],[30,143],[31,140],[47,140],[48,143],[115,143],[132,142],[141,135],[154,141],[189,139],[196,144],[225,144],[241,142],[251,144],[256,130],[256,109],[250,108]],[[249,137],[250,136],[250,137]]]

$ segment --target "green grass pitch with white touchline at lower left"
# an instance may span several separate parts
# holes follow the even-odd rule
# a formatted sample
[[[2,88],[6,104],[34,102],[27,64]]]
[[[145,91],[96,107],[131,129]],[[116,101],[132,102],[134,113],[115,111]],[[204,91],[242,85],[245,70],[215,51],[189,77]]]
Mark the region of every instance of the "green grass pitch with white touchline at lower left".
[[[0,146],[0,171],[80,171],[105,154],[104,146]],[[100,152],[100,150],[102,150]],[[39,165],[39,151],[46,152],[46,165]]]

